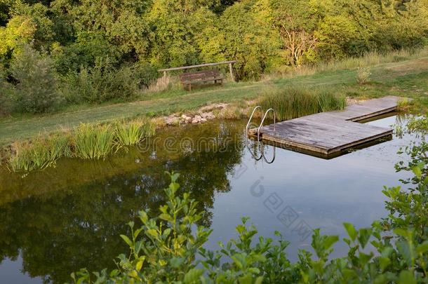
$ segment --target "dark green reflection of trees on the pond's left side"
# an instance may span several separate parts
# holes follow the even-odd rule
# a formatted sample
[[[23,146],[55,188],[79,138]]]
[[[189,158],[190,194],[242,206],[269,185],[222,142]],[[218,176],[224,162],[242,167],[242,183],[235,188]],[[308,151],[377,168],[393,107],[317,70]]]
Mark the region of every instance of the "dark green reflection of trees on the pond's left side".
[[[236,138],[234,134],[241,130],[241,124],[222,126],[222,131],[215,134],[213,126],[209,125],[191,129],[194,130],[192,135],[196,136]],[[159,133],[159,136],[173,134],[180,140],[189,133],[174,132]],[[241,140],[240,137],[236,139]],[[82,172],[82,178],[88,179],[90,173],[83,173],[85,168],[79,168],[79,163],[72,163],[74,168],[61,169],[58,165],[53,173],[62,171],[61,175],[51,178],[48,173],[39,173],[44,179],[38,179],[37,184],[25,180],[22,183],[29,196],[20,196],[18,200],[0,206],[0,259],[14,258],[22,252],[24,271],[53,282],[69,280],[69,273],[83,266],[90,270],[111,269],[114,266],[112,259],[127,250],[119,238],[119,234],[128,229],[126,222],[143,208],[157,212],[163,203],[162,189],[169,182],[163,174],[165,170],[181,173],[180,190],[190,191],[199,201],[201,210],[207,212],[202,222],[209,225],[214,195],[230,190],[227,174],[241,159],[241,152],[233,147],[236,141],[229,143],[229,147],[221,152],[190,149],[186,154],[174,155],[159,147],[156,159],[150,158],[151,153],[134,149],[126,155],[131,158],[125,161],[131,163],[138,157],[141,161],[138,169],[102,179],[94,176],[95,181],[84,184],[79,183],[79,175],[74,178],[76,184],[67,187],[58,180],[64,178],[69,183],[70,173],[76,174],[76,169]],[[105,166],[110,168],[114,163],[113,158],[106,161]],[[99,165],[97,169],[93,173],[99,175],[102,172]],[[62,189],[55,190],[60,186]],[[52,190],[46,191],[49,187]],[[37,194],[41,188],[44,193]],[[7,193],[7,189],[2,191]]]

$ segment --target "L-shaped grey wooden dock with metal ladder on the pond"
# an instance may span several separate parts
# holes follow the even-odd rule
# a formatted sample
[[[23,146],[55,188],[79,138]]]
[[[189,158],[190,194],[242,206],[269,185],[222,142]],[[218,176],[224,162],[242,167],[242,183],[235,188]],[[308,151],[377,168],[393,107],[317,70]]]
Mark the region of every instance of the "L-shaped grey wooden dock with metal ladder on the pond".
[[[396,111],[400,97],[382,97],[352,104],[343,111],[303,116],[260,128],[260,139],[276,147],[300,151],[321,158],[333,158],[392,139],[392,129],[370,126],[359,121]],[[254,135],[257,130],[252,130]]]

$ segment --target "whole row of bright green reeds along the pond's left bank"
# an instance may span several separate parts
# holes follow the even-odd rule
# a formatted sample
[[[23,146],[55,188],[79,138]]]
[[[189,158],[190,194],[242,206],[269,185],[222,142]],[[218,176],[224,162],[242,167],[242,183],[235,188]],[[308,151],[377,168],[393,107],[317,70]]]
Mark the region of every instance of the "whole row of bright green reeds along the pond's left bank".
[[[151,121],[121,121],[113,125],[81,124],[69,133],[57,133],[32,141],[15,142],[8,158],[8,168],[14,172],[41,170],[58,158],[105,158],[116,147],[138,144],[154,135]]]

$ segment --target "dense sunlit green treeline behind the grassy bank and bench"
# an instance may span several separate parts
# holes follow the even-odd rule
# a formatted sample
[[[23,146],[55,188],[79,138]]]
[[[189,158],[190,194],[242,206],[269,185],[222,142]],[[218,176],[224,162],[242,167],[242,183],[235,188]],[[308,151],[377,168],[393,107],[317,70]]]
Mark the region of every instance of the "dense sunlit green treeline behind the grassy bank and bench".
[[[0,113],[126,100],[156,69],[238,79],[428,42],[428,0],[0,0]]]

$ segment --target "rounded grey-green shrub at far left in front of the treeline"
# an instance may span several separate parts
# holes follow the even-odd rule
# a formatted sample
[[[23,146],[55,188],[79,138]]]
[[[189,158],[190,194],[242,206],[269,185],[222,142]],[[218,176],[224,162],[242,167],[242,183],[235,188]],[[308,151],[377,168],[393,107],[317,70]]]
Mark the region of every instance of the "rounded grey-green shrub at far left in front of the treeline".
[[[58,92],[53,62],[29,46],[15,54],[10,67],[16,81],[13,88],[13,110],[41,113],[55,110],[62,102]]]

